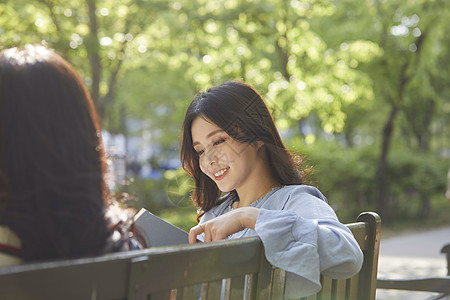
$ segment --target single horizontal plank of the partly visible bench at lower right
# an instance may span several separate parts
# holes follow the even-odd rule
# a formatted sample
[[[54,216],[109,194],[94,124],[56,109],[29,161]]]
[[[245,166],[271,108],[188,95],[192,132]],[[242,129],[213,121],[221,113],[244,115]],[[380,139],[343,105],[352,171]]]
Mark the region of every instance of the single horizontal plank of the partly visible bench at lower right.
[[[417,279],[378,279],[377,288],[450,294],[450,276]]]

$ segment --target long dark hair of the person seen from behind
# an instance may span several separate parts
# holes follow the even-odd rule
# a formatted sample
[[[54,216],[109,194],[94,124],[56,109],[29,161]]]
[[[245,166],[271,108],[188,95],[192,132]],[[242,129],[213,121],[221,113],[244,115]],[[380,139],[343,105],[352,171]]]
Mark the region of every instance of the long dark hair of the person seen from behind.
[[[115,228],[99,118],[82,79],[42,45],[0,54],[0,225],[25,261],[95,256]]]

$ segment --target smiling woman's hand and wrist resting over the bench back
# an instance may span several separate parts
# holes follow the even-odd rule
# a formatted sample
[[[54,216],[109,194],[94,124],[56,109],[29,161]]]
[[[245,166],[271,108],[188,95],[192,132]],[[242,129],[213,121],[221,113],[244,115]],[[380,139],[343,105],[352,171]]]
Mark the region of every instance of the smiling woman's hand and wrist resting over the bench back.
[[[229,235],[245,228],[255,229],[259,208],[242,207],[232,210],[203,224],[194,226],[189,231],[189,244],[197,241],[197,235],[205,233],[204,242],[223,240]]]

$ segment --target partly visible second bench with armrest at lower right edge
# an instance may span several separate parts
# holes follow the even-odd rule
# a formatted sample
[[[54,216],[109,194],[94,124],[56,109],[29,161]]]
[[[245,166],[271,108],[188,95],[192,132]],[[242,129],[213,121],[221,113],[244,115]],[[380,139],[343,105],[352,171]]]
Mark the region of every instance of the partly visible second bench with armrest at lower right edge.
[[[447,255],[447,276],[425,277],[425,278],[407,278],[407,279],[388,279],[378,278],[378,289],[403,290],[416,292],[440,293],[429,299],[442,299],[450,295],[450,244],[445,245],[441,253]]]

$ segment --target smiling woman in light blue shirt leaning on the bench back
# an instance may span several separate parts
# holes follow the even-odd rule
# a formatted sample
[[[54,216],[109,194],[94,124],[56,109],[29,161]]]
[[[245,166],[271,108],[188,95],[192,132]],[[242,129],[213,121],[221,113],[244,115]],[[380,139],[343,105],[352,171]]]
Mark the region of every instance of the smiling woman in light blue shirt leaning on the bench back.
[[[352,233],[319,190],[303,185],[301,159],[286,150],[251,86],[226,82],[195,97],[183,124],[181,162],[202,210],[190,243],[259,236],[267,259],[288,271],[286,297],[319,291],[320,273],[342,279],[360,270]]]

